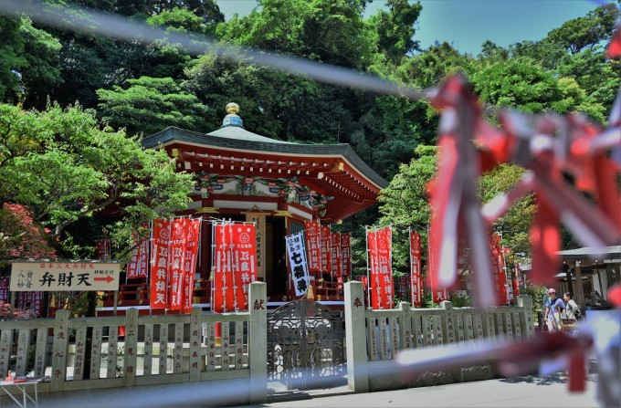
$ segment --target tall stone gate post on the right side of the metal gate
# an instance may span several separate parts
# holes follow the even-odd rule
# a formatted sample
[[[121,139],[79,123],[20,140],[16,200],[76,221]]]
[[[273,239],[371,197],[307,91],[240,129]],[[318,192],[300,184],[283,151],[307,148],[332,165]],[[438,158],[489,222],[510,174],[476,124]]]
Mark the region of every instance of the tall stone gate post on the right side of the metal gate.
[[[347,341],[347,384],[354,392],[369,392],[366,355],[366,322],[363,283],[345,284],[345,339]]]

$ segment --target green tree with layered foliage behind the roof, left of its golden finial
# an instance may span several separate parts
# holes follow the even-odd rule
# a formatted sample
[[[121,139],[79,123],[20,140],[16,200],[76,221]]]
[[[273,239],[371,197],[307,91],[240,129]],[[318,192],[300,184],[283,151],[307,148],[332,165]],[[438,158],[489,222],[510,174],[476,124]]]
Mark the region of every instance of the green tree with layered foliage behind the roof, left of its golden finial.
[[[134,135],[152,134],[168,126],[189,131],[216,128],[213,110],[184,92],[173,78],[128,79],[129,88],[99,89],[100,115],[112,127],[125,127]]]

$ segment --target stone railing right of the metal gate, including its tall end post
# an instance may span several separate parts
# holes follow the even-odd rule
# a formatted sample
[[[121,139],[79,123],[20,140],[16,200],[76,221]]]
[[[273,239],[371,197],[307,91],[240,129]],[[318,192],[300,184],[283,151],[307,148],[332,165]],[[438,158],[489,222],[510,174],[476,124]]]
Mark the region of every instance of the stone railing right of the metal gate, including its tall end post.
[[[454,309],[448,301],[439,309],[411,309],[406,302],[399,309],[365,309],[363,296],[361,282],[345,284],[348,383],[356,392],[411,386],[379,369],[399,350],[495,337],[521,340],[534,334],[529,297],[518,297],[515,307],[483,311]]]

